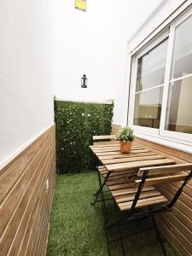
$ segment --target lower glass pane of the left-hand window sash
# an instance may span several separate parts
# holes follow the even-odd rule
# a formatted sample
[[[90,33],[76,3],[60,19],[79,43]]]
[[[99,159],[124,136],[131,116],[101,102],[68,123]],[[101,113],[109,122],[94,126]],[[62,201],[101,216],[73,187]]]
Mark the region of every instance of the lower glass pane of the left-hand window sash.
[[[160,128],[163,86],[136,94],[134,125]]]

